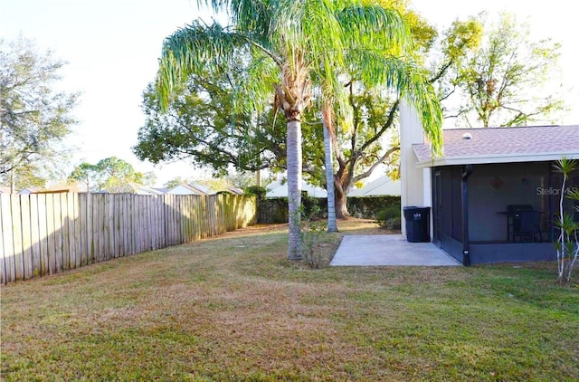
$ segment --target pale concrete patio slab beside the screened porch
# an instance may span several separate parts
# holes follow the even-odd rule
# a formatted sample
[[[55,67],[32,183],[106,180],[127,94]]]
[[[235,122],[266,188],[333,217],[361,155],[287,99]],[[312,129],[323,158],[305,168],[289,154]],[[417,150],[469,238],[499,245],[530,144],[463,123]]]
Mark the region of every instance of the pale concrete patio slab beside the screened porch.
[[[402,234],[346,235],[332,266],[417,265],[459,266],[432,243],[408,243]]]

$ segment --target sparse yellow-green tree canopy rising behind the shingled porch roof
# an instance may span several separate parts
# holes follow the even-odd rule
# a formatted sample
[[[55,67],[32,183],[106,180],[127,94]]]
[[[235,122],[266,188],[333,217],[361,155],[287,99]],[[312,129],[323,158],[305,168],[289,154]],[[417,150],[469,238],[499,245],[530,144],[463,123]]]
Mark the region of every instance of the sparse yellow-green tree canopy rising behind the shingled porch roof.
[[[467,127],[554,122],[564,110],[557,89],[548,88],[556,83],[560,45],[532,39],[529,25],[512,14],[473,20],[484,31],[480,45],[469,46],[440,79],[446,117]]]

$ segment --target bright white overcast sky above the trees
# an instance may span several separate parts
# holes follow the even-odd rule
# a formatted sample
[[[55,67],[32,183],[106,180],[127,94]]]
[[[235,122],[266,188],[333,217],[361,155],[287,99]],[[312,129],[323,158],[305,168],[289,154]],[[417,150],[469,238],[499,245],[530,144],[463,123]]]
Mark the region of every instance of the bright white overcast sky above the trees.
[[[579,62],[575,14],[561,12],[569,3],[553,0],[487,0],[485,2],[412,0],[410,6],[443,29],[457,18],[487,10],[508,11],[527,20],[538,37],[562,43],[562,82],[575,109],[562,124],[579,124]],[[70,167],[112,156],[138,171],[154,171],[157,185],[175,177],[206,177],[189,163],[153,166],[132,154],[145,116],[142,92],[155,79],[164,38],[198,17],[196,0],[0,0],[0,36],[33,39],[39,51],[51,50],[68,64],[59,90],[80,92],[73,115],[79,120],[69,138],[74,147]]]

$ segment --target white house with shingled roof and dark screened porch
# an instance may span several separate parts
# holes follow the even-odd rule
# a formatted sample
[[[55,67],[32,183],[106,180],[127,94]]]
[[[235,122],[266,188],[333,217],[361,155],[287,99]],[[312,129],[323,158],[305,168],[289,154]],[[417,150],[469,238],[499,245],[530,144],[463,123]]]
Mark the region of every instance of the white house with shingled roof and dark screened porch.
[[[420,122],[401,108],[402,205],[432,208],[432,242],[465,265],[555,259],[562,177],[553,165],[579,159],[579,125],[446,129],[443,140],[432,158]],[[579,171],[568,186],[579,187]],[[531,218],[533,232],[518,235]]]

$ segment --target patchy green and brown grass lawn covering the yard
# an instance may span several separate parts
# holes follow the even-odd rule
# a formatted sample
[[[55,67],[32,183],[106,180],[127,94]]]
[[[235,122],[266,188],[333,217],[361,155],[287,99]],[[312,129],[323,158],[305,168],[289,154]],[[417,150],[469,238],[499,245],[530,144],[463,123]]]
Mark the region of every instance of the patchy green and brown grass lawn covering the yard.
[[[318,251],[384,233],[340,228]],[[251,227],[3,286],[2,379],[579,380],[555,263],[310,270],[286,247]]]

